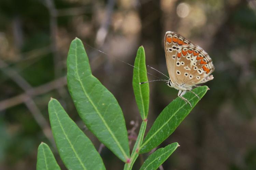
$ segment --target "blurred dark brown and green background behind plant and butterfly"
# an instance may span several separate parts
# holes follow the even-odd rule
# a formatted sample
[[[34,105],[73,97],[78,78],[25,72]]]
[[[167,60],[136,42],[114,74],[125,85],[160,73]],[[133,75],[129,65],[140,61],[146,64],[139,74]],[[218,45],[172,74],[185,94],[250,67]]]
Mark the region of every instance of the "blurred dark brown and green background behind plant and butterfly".
[[[93,74],[123,109],[132,147],[141,119],[133,68],[119,60],[133,64],[143,45],[146,64],[168,74],[166,31],[201,46],[216,69],[205,84],[211,90],[160,145],[181,145],[162,168],[256,169],[256,0],[0,0],[0,169],[35,169],[41,141],[66,169],[49,126],[50,97],[93,141],[106,168],[122,169],[73,105],[65,77],[69,45],[75,37],[83,41]],[[147,131],[177,92],[163,82],[150,84]],[[141,155],[134,169],[147,156]]]

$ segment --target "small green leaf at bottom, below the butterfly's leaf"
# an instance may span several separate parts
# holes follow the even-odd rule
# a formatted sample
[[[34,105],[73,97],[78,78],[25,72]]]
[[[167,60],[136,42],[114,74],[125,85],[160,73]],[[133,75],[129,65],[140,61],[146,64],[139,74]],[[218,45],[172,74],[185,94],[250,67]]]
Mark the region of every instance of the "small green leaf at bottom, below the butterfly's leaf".
[[[160,148],[152,153],[145,160],[140,170],[154,170],[157,169],[163,162],[179,147],[177,142],[167,145],[164,148]]]

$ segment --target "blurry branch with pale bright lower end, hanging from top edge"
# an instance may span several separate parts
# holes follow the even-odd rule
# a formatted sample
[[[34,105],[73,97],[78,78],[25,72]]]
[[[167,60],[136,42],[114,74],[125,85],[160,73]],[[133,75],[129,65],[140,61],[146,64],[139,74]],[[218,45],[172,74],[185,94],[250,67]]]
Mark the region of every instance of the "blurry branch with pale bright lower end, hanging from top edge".
[[[106,11],[104,21],[102,22],[102,24],[97,32],[97,35],[96,35],[95,41],[98,46],[102,46],[104,44],[105,38],[108,34],[114,5],[115,5],[115,0],[108,0],[108,4],[106,7],[107,11]]]

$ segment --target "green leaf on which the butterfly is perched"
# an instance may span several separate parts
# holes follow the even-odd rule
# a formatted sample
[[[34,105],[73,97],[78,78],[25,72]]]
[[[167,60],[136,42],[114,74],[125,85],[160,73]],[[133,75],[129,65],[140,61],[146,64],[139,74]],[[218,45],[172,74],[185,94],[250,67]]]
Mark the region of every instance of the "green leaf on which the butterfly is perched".
[[[202,98],[208,89],[207,86],[201,86],[192,91]],[[192,107],[179,97],[173,100],[155,120],[152,128],[143,140],[140,153],[152,150],[168,138],[199,101],[191,92],[186,92],[184,97],[191,103]]]

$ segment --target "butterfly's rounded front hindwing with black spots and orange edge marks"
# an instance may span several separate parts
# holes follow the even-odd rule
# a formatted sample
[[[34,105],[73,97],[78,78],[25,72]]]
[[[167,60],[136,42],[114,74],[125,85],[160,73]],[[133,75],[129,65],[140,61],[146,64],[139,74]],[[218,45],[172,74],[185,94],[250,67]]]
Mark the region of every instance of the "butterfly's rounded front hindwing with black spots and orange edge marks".
[[[213,76],[210,75],[215,69],[212,59],[201,47],[193,44],[185,45],[177,52],[176,56],[174,77],[177,84],[193,86],[213,79]]]

